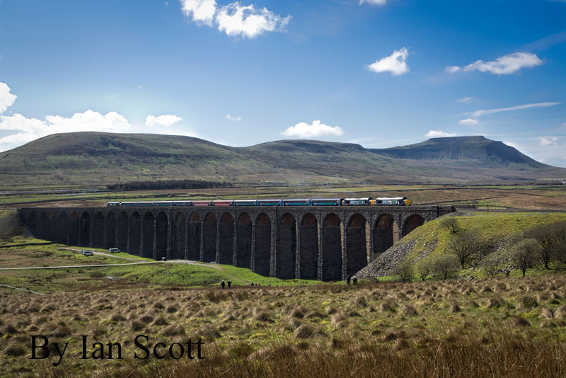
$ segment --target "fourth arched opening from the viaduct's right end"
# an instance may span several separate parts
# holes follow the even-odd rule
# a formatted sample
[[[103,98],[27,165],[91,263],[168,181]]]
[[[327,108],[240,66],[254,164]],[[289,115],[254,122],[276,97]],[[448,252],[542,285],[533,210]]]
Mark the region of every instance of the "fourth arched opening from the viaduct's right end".
[[[323,281],[342,278],[342,227],[337,214],[328,214],[323,221]]]

